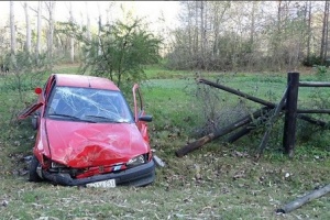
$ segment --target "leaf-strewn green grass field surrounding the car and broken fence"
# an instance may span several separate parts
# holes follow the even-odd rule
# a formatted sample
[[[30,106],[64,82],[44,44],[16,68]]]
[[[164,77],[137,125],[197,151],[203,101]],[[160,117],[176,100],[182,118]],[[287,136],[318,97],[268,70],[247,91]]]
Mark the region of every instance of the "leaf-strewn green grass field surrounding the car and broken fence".
[[[75,73],[76,69],[67,65],[55,72]],[[329,131],[299,122],[294,158],[280,151],[282,120],[275,124],[268,147],[258,161],[254,160],[254,153],[264,129],[234,144],[217,140],[178,158],[175,151],[198,138],[196,131],[205,120],[198,98],[200,90],[194,80],[196,73],[153,66],[146,74],[148,80],[141,86],[146,111],[154,117],[150,123],[151,144],[166,166],[157,168],[156,182],[151,186],[113,189],[62,187],[26,180],[24,157],[31,155],[34,131],[30,120],[18,122],[14,116],[34,100],[32,85],[37,81],[28,84],[31,90],[23,90],[20,96],[13,82],[2,77],[0,219],[330,219],[330,195],[290,213],[275,213],[277,208],[330,184]],[[198,74],[274,102],[279,101],[286,86],[286,74]],[[311,73],[300,78],[318,80]],[[256,107],[224,91],[212,92],[221,97],[216,106],[223,122],[243,117],[240,116],[242,108]],[[327,89],[304,88],[299,90],[299,105],[324,106],[328,97]],[[321,117],[328,120],[327,116]]]

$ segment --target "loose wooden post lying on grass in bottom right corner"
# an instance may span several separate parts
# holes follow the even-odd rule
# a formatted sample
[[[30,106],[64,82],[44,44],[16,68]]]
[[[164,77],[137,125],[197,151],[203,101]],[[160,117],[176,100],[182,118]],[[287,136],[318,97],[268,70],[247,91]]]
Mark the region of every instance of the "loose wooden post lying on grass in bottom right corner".
[[[324,196],[328,193],[330,193],[330,184],[322,187],[322,188],[320,188],[320,189],[314,190],[310,194],[296,199],[295,201],[289,202],[288,205],[286,205],[282,209],[277,209],[276,212],[277,213],[288,213],[288,212],[299,208],[300,206],[311,201],[312,199]]]

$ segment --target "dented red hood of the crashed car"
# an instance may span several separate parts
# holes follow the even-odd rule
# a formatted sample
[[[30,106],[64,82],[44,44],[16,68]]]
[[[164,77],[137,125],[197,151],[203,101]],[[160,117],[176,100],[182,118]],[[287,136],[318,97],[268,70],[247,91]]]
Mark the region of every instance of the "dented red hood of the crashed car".
[[[52,160],[70,167],[125,163],[148,152],[134,123],[46,120]]]

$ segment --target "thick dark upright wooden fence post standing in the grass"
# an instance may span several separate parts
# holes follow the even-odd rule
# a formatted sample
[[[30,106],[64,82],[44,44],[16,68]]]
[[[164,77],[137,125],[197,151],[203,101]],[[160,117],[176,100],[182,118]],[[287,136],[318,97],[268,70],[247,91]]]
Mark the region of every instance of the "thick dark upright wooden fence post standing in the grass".
[[[289,157],[294,156],[294,148],[296,142],[296,121],[297,121],[297,102],[299,90],[299,73],[288,73],[287,75],[287,98],[286,112],[284,122],[283,146],[285,153]]]

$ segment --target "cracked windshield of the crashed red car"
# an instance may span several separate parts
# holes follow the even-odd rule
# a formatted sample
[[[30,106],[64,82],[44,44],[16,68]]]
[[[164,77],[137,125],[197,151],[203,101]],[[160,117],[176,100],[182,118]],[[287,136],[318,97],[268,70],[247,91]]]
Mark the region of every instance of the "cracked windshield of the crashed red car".
[[[78,87],[56,87],[46,116],[75,121],[133,122],[120,91]]]

